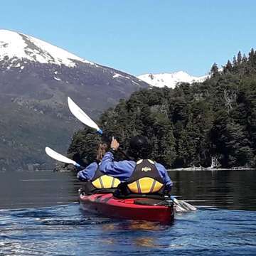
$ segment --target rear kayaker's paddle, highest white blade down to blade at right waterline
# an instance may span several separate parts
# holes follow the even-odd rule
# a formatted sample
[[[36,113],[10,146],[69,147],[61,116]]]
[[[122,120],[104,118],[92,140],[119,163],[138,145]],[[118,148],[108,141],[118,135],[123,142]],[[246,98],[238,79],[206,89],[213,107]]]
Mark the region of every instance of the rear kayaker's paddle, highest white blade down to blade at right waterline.
[[[97,133],[100,135],[103,134],[102,129],[97,126],[97,124],[87,115],[83,110],[78,107],[78,105],[73,102],[73,100],[68,97],[68,107],[70,109],[70,112],[83,124],[87,125],[88,127],[91,127],[92,129],[96,129]],[[122,154],[124,154],[127,159],[130,159],[127,154],[124,153],[124,151],[119,150]],[[178,199],[174,198],[174,196],[171,197],[171,200],[176,203],[176,207],[178,211],[187,211],[187,210],[196,210],[194,206],[191,206],[189,203],[186,203],[184,201],[179,201]]]

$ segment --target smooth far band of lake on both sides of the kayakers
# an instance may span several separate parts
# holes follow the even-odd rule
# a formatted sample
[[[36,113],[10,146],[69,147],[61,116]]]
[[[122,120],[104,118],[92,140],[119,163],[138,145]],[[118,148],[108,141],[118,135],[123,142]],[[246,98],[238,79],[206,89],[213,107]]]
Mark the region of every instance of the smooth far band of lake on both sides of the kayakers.
[[[197,206],[256,210],[256,170],[169,171],[172,192]],[[81,183],[71,173],[0,173],[0,208],[56,206],[78,200]]]

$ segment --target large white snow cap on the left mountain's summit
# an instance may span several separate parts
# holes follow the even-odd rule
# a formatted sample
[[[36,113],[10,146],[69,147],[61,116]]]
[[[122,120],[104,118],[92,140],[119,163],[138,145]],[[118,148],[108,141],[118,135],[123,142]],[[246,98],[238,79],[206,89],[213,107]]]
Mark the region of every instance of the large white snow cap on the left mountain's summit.
[[[17,65],[18,60],[23,59],[68,67],[74,67],[75,61],[97,66],[95,63],[32,36],[0,29],[0,61],[12,60],[11,63],[14,65],[9,65],[11,68]]]

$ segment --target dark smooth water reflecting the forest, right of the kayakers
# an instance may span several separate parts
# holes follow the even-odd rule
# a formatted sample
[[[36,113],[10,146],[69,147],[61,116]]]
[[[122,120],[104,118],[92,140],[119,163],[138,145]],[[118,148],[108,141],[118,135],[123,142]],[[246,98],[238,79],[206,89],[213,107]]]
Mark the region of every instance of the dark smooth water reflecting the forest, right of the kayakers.
[[[256,170],[169,171],[173,193],[199,206],[256,210]]]

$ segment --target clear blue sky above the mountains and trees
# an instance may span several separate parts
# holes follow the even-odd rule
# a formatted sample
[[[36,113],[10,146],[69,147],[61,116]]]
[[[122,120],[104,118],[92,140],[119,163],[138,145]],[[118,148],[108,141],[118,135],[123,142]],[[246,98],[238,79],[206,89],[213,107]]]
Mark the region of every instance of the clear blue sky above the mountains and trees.
[[[8,0],[0,28],[132,75],[204,75],[256,48],[255,10],[253,0]]]

